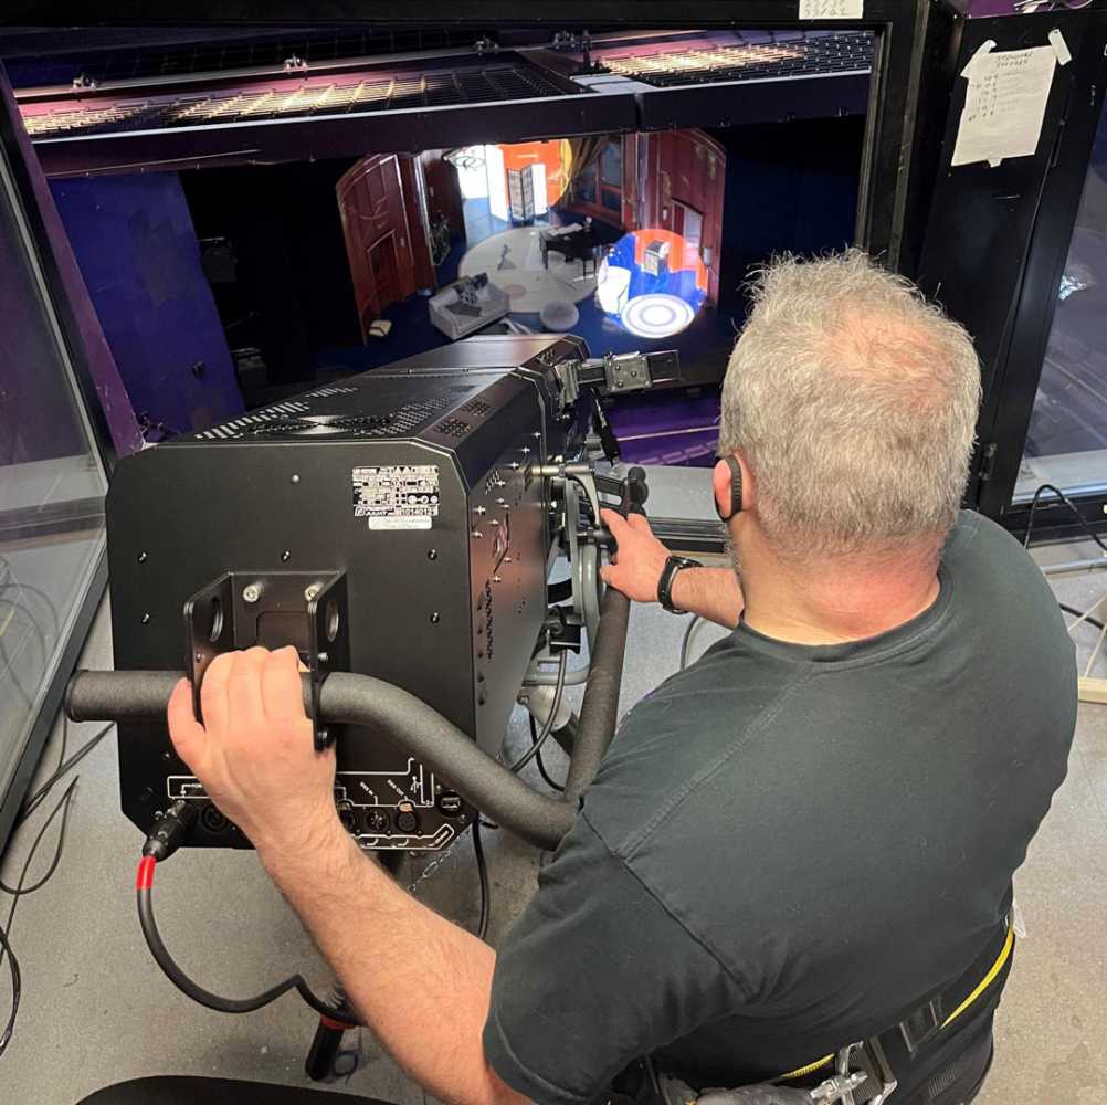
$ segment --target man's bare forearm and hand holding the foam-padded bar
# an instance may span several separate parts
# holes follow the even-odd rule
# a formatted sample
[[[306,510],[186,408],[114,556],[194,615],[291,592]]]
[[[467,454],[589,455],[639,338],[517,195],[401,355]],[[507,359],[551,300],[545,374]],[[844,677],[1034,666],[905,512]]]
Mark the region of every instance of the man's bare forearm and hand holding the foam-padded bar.
[[[362,855],[334,809],[334,752],[314,752],[294,649],[218,657],[169,702],[180,757],[246,833],[366,1024],[422,1086],[454,1105],[525,1105],[482,1031],[496,953]]]

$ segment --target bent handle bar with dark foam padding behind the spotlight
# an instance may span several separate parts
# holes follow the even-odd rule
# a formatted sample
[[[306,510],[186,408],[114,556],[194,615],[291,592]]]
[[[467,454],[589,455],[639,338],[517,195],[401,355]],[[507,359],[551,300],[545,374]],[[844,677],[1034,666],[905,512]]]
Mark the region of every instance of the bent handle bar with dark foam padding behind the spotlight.
[[[482,752],[436,710],[371,675],[328,675],[320,690],[320,716],[324,723],[364,725],[383,733],[504,828],[529,844],[552,849],[569,832],[580,795],[596,777],[614,736],[629,616],[630,600],[609,587],[600,607],[563,797],[540,794]],[[180,672],[168,671],[80,671],[65,692],[65,712],[72,721],[161,720],[182,678]],[[309,677],[302,682],[304,709],[310,710]]]

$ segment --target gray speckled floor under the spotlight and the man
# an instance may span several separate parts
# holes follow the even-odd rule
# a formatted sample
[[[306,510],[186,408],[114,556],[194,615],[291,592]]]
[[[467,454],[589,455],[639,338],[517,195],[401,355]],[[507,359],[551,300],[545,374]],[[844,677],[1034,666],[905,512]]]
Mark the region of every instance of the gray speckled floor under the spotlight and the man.
[[[1044,556],[1056,560],[1073,554]],[[1055,588],[1064,601],[1084,609],[1107,591],[1107,572],[1067,577]],[[675,669],[685,624],[656,608],[635,609],[624,709]],[[714,628],[703,628],[693,654],[715,636]],[[1096,633],[1080,629],[1078,640],[1086,654]],[[101,611],[82,665],[108,668],[111,660],[106,612]],[[1100,663],[1099,674],[1107,674],[1107,663]],[[509,737],[520,747],[527,740],[523,721],[521,714],[514,719]],[[97,726],[71,730],[74,748]],[[52,770],[59,735],[46,752],[44,774]],[[548,760],[551,773],[560,775],[560,751]],[[79,773],[61,867],[42,890],[21,901],[12,927],[24,993],[14,1039],[0,1061],[0,1101],[74,1105],[101,1086],[162,1073],[307,1084],[302,1063],[314,1015],[299,1000],[286,996],[260,1012],[229,1016],[192,1004],[159,973],[135,918],[133,877],[142,840],[118,812],[111,736]],[[32,836],[33,827],[15,839],[3,865],[7,879],[18,876]],[[495,943],[532,892],[537,856],[501,833],[485,837]],[[48,861],[40,857],[34,869],[41,871]],[[405,877],[446,916],[475,923],[477,888],[467,835],[451,853]],[[1082,706],[1068,779],[1016,885],[1027,934],[997,1018],[996,1061],[981,1105],[1100,1103],[1107,1097],[1101,1062],[1107,1043],[1107,706]],[[0,906],[7,908],[2,898]],[[166,942],[211,989],[246,995],[291,970],[327,984],[325,967],[251,853],[179,853],[159,876],[157,907]],[[7,1011],[8,998],[6,968],[0,1012]],[[424,1102],[368,1033],[360,1042],[348,1040],[360,1051],[358,1070],[327,1088],[397,1105]]]

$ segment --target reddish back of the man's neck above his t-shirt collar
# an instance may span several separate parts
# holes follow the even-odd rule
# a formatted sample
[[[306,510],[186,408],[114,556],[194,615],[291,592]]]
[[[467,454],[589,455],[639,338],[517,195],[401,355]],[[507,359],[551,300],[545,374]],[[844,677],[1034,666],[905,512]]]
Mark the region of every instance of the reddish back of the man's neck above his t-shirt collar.
[[[940,590],[927,558],[876,566],[836,559],[800,570],[782,564],[757,539],[745,543],[741,554],[746,623],[797,644],[840,644],[886,633],[929,609]]]

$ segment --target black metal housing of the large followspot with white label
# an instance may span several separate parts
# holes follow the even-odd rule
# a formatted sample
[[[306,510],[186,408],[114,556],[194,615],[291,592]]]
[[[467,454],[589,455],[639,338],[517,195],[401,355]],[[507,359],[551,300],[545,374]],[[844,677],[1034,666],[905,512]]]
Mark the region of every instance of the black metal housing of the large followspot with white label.
[[[318,668],[309,615],[327,592],[309,588],[344,574],[348,670],[495,755],[546,619],[550,482],[529,469],[565,453],[554,366],[587,354],[572,337],[474,338],[122,461],[107,498],[116,668],[252,643],[296,644]],[[271,609],[266,588],[281,589]],[[172,799],[205,802],[164,724],[121,722],[120,768],[144,830]],[[377,734],[344,732],[335,798],[365,847],[448,844],[469,809],[444,793]],[[247,843],[215,815],[194,841]]]

